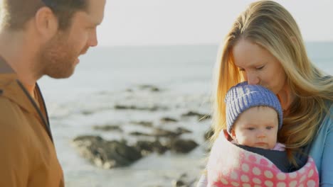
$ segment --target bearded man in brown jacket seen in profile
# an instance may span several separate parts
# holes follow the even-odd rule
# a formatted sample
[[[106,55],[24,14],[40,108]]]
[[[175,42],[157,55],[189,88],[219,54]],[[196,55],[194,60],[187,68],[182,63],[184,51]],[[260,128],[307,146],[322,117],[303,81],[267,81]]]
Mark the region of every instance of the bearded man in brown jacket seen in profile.
[[[64,186],[36,81],[73,74],[106,0],[1,0],[0,186]]]

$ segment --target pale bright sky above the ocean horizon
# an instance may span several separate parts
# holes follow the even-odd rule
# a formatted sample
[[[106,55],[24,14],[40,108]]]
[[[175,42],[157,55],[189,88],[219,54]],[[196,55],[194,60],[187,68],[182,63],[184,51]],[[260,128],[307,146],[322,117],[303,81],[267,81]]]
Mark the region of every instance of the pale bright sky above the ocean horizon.
[[[99,45],[220,43],[250,0],[107,0]],[[305,41],[333,41],[333,1],[277,0]]]

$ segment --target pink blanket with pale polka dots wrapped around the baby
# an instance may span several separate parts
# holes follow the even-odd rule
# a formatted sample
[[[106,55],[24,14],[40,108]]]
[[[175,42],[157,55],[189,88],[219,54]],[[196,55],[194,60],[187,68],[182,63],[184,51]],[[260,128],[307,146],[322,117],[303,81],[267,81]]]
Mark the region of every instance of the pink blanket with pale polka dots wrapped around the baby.
[[[314,160],[297,171],[284,173],[269,159],[249,152],[220,134],[208,158],[208,186],[319,186]]]

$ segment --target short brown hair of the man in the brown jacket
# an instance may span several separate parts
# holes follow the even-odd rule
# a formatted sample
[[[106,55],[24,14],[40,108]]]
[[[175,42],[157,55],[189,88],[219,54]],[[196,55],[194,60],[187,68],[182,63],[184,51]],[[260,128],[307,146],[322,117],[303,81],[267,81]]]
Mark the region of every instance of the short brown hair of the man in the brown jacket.
[[[39,8],[48,6],[58,18],[59,29],[70,26],[76,11],[88,11],[88,0],[2,0],[1,28],[21,30],[35,16]]]

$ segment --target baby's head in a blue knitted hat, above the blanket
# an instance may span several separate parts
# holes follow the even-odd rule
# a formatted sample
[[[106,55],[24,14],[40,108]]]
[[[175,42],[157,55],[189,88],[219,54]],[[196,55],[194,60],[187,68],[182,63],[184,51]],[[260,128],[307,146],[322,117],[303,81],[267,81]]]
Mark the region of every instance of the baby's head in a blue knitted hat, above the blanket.
[[[226,125],[233,143],[262,149],[285,150],[277,142],[282,108],[277,96],[263,86],[243,82],[226,95]]]

